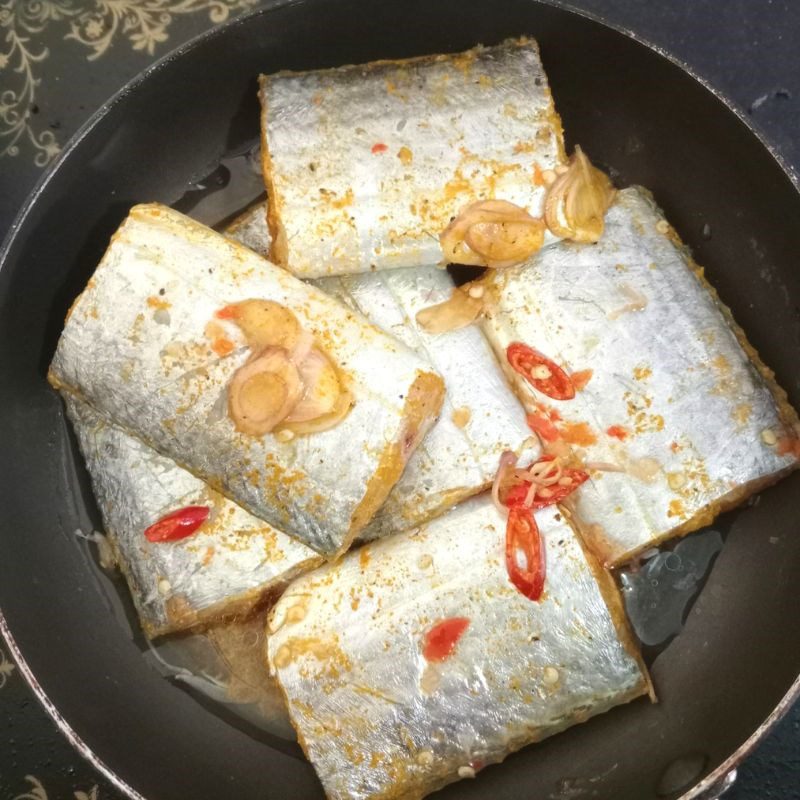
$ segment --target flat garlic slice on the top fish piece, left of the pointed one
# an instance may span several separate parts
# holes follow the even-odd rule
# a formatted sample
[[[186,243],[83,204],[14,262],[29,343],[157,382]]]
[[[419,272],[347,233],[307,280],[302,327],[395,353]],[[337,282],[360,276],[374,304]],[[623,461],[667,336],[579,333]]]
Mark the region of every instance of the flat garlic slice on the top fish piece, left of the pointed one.
[[[445,260],[502,269],[520,264],[544,243],[545,225],[506,200],[468,205],[444,229],[439,242]]]

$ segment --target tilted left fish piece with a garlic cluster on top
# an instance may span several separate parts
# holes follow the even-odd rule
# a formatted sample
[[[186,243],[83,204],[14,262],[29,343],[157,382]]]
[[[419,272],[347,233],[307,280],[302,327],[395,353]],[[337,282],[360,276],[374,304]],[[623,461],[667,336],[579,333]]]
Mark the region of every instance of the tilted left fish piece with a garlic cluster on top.
[[[335,427],[288,442],[235,429],[227,384],[249,348],[215,313],[253,298],[291,309],[338,365],[354,405]],[[383,503],[443,395],[427,364],[360,315],[158,205],[136,206],[114,235],[70,311],[50,380],[326,556]]]

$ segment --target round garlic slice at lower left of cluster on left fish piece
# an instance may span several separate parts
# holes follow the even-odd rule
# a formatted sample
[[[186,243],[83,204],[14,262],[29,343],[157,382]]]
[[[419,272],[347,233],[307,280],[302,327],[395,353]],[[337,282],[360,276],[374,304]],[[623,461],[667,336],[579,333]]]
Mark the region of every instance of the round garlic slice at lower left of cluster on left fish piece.
[[[297,367],[283,347],[268,347],[241,366],[228,388],[228,410],[236,430],[269,433],[295,407],[303,393]]]

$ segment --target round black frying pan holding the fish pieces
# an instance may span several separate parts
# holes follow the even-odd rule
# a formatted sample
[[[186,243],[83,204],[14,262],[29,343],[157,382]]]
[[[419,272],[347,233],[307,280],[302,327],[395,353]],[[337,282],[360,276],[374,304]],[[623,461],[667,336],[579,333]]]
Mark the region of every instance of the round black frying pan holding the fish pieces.
[[[76,528],[99,519],[45,382],[69,303],[132,204],[191,211],[205,177],[228,180],[220,159],[258,134],[259,72],[458,51],[522,33],[541,44],[570,147],[583,145],[618,184],[654,191],[800,400],[800,195],[746,124],[655,50],[531,0],[297,0],[195,40],[81,130],[15,222],[0,269],[0,621],[62,730],[131,797],[321,792],[295,745],[233,722],[147,666],[114,587],[76,540]],[[243,205],[256,191],[225,197]],[[715,796],[800,692],[799,485],[798,476],[784,481],[730,518],[683,631],[652,663],[658,705],[615,709],[441,796]]]

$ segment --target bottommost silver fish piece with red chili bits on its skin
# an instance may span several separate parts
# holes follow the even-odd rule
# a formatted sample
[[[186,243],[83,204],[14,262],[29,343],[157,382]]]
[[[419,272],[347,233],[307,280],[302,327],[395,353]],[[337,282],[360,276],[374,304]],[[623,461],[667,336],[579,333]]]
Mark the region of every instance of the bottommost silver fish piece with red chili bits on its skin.
[[[486,495],[289,585],[268,659],[329,798],[423,797],[649,691],[612,579],[555,507],[536,519],[540,602],[509,582]],[[426,660],[451,618],[452,654]]]

